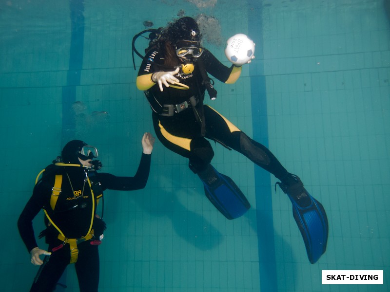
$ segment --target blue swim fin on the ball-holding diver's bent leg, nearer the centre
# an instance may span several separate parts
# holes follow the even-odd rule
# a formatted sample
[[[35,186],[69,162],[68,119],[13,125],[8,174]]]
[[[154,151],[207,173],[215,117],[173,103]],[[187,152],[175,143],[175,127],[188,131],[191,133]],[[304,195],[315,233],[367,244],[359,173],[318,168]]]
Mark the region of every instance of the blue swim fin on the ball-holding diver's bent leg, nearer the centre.
[[[206,197],[227,219],[244,215],[251,204],[233,180],[208,164],[205,170],[197,173],[204,185]]]

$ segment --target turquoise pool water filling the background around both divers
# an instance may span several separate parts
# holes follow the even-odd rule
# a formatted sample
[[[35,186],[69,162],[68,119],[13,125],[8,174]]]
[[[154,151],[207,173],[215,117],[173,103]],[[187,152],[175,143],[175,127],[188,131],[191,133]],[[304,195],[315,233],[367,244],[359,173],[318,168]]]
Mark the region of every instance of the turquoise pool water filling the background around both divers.
[[[187,160],[156,142],[145,189],[105,192],[99,291],[388,291],[388,3],[3,1],[1,291],[28,291],[38,270],[16,221],[35,176],[68,140],[97,146],[105,172],[136,172],[142,133],[153,127],[135,86],[131,40],[145,21],[157,28],[181,15],[202,19],[206,47],[226,65],[228,37],[254,39],[255,60],[235,84],[216,81],[218,98],[207,103],[269,146],[322,202],[327,252],[309,263],[287,196],[245,157],[213,145],[214,166],[252,204],[229,221],[205,198]],[[42,226],[40,214],[37,234]],[[321,285],[321,270],[384,270],[384,285]],[[61,280],[64,291],[78,291],[72,266]]]

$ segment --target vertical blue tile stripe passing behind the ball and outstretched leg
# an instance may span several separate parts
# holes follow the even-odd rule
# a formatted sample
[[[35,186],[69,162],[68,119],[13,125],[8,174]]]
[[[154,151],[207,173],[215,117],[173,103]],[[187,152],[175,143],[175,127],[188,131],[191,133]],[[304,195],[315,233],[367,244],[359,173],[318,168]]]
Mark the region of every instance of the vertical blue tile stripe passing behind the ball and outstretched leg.
[[[248,0],[248,30],[256,43],[250,65],[254,140],[268,147],[267,92],[263,70],[261,1]],[[256,219],[261,292],[277,291],[270,173],[255,166]]]

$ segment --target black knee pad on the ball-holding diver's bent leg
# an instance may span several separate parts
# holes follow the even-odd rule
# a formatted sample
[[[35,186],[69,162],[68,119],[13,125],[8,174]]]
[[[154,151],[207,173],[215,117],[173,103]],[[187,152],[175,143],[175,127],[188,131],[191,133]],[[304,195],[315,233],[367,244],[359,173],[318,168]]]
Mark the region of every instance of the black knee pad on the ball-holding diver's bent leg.
[[[191,141],[190,168],[197,173],[202,171],[214,157],[210,142],[203,137]]]

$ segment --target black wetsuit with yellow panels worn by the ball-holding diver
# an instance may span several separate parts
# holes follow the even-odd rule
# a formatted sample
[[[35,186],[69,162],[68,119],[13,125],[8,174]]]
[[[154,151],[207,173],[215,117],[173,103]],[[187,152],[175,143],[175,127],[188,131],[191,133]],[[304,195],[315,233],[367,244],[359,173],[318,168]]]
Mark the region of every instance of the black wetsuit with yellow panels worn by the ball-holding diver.
[[[146,54],[138,76],[174,70],[157,65],[163,64],[163,61],[164,56],[157,49],[152,49]],[[194,172],[205,169],[214,156],[212,146],[205,139],[208,138],[244,154],[255,164],[282,180],[288,172],[269,149],[249,138],[216,110],[208,105],[203,105],[206,87],[203,83],[199,61],[204,64],[203,68],[207,73],[219,81],[235,82],[235,80],[229,82],[229,78],[237,68],[224,66],[207,49],[203,49],[203,54],[193,63],[195,66],[193,73],[188,75],[178,73],[176,75],[180,83],[189,86],[188,90],[174,87],[166,88],[163,85],[164,91],[161,92],[158,85],[155,84],[145,91],[153,110],[153,123],[158,139],[167,148],[189,158],[190,167]],[[138,80],[142,79],[137,78],[137,86]],[[146,78],[142,81],[145,80]],[[194,97],[195,103],[193,102]],[[184,102],[190,105],[187,109],[174,113],[172,116],[166,116],[163,105],[174,105],[176,108],[176,105],[180,106]]]

